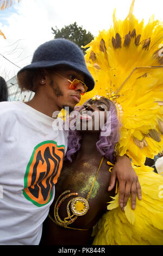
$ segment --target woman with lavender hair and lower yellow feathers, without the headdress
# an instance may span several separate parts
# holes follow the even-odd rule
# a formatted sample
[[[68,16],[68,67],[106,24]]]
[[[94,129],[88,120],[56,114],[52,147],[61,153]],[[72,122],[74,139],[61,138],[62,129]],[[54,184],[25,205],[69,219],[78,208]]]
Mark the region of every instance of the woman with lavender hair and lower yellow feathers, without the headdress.
[[[70,163],[65,164],[56,186],[55,202],[43,227],[42,242],[45,245],[89,244],[92,242],[92,228],[97,223],[93,230],[93,235],[96,235],[93,245],[160,245],[163,243],[163,177],[154,173],[151,167],[133,165],[141,181],[142,200],[136,201],[134,211],[130,208],[130,199],[124,211],[118,207],[116,188],[109,193],[107,191],[110,179],[108,164],[111,164],[108,158],[112,160],[118,139],[116,108],[108,99],[98,99],[87,101],[79,111],[86,130],[70,132],[67,150]],[[102,131],[95,130],[93,113],[105,113],[106,121],[108,110],[111,112],[111,133],[102,138]],[[90,120],[92,131],[88,130]],[[105,123],[102,130],[106,132],[107,129]],[[106,211],[109,202],[110,211]]]

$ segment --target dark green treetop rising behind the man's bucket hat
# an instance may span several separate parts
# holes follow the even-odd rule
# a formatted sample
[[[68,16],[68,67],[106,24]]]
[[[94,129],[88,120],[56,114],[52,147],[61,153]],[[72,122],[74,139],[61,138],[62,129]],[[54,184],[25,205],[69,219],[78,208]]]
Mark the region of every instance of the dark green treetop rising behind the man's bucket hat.
[[[79,27],[76,22],[61,29],[58,29],[57,27],[54,29],[52,27],[52,31],[54,38],[65,38],[71,40],[79,47],[87,45],[94,38],[91,32],[87,32],[83,27]],[[85,53],[85,49],[82,48],[82,50]]]

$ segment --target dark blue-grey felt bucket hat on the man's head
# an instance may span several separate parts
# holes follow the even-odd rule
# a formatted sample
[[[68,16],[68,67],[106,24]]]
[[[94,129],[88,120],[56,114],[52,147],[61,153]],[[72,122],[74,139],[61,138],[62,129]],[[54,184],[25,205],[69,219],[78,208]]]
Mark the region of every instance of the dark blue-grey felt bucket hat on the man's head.
[[[66,39],[53,39],[40,45],[34,52],[32,63],[24,66],[17,75],[30,69],[50,68],[59,65],[68,65],[70,68],[81,72],[85,77],[87,92],[94,88],[95,81],[86,67],[82,50]]]

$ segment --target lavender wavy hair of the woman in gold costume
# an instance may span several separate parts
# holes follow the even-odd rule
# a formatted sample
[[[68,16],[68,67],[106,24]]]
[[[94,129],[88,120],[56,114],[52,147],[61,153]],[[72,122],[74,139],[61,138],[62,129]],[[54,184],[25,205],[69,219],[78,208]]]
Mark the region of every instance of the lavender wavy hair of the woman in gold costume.
[[[115,144],[118,142],[119,139],[119,122],[117,118],[117,109],[115,104],[106,99],[105,97],[102,98],[105,104],[108,106],[111,119],[107,118],[106,120],[109,120],[108,123],[106,123],[103,126],[102,131],[105,129],[105,131],[110,127],[111,125],[111,131],[109,133],[109,136],[102,136],[102,131],[99,135],[99,140],[96,143],[97,150],[102,156],[105,156],[110,161],[112,161],[112,153],[115,149]],[[87,102],[91,101],[91,99],[87,100],[82,107],[74,108],[74,110],[80,111],[84,108],[84,105],[86,105]],[[82,133],[80,133],[77,130],[70,130],[68,133],[68,148],[67,153],[65,156],[66,160],[69,160],[72,162],[73,155],[80,149],[80,141],[82,140]]]

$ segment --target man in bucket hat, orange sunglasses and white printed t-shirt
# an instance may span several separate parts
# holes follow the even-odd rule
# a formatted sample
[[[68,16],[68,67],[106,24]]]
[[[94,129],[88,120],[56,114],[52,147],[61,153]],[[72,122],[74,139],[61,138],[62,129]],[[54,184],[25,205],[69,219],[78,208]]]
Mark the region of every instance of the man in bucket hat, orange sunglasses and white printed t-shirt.
[[[94,81],[82,51],[65,39],[39,46],[17,78],[35,95],[26,103],[0,103],[0,244],[38,245],[67,149],[66,132],[53,130],[52,114],[73,109]],[[70,88],[74,78],[80,81]]]

